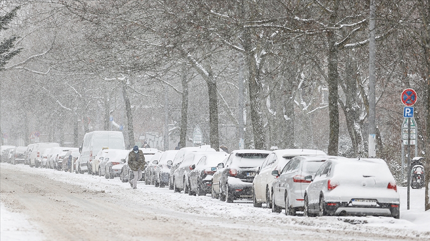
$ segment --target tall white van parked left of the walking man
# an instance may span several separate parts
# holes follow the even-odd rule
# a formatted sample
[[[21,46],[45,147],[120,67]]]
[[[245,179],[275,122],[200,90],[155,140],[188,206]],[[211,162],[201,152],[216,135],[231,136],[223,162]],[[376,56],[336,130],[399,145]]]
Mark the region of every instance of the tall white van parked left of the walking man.
[[[93,131],[86,133],[80,150],[81,155],[76,161],[76,172],[88,172],[88,174],[92,174],[93,159],[103,147],[108,147],[108,149],[125,150],[124,136],[122,135],[122,132]]]

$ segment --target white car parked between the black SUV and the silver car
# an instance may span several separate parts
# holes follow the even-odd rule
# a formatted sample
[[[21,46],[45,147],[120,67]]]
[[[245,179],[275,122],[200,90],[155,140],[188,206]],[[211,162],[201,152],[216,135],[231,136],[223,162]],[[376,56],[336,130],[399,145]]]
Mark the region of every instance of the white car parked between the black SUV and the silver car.
[[[323,151],[309,149],[284,149],[272,151],[264,160],[258,174],[252,181],[252,200],[254,207],[261,207],[261,203],[266,203],[267,208],[272,207],[270,190],[272,182],[276,179],[272,172],[281,170],[296,156],[305,155],[325,155]]]

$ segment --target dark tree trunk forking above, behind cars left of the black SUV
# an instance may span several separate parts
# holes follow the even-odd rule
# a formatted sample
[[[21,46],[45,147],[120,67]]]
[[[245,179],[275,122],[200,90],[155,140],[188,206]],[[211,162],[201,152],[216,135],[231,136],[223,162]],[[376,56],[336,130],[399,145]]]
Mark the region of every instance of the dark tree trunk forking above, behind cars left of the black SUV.
[[[218,133],[218,98],[216,91],[216,81],[206,81],[209,92],[209,135],[211,147],[219,151],[219,133]]]

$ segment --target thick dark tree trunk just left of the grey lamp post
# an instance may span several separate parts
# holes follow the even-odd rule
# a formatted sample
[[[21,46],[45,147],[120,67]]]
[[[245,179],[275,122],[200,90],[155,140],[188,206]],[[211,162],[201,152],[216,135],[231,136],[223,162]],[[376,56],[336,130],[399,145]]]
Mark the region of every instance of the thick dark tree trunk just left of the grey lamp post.
[[[330,25],[336,22],[337,0],[334,1],[334,8],[330,15]],[[337,71],[337,46],[334,31],[327,31],[328,55],[328,115],[329,115],[329,136],[328,136],[328,155],[337,156],[339,144],[339,110],[337,106],[337,85],[339,73]]]

